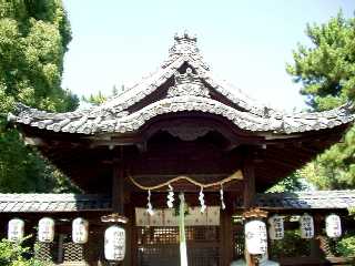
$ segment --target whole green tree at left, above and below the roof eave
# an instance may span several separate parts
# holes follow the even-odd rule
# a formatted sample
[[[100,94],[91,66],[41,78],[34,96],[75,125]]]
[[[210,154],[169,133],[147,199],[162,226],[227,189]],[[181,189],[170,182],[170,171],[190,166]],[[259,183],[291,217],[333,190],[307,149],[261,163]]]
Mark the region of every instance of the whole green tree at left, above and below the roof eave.
[[[65,177],[7,126],[6,114],[16,102],[58,112],[78,106],[79,99],[61,89],[70,40],[61,0],[0,0],[0,192],[69,188]]]

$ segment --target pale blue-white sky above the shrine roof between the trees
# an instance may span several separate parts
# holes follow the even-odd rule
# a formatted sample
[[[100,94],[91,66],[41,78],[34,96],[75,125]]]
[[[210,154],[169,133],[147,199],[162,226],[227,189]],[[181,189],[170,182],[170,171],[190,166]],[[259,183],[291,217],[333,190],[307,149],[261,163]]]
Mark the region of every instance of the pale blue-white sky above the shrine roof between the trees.
[[[78,95],[130,86],[166,58],[175,32],[197,35],[212,71],[264,104],[305,108],[285,69],[306,23],[324,23],[355,0],[63,0],[72,28],[62,86]]]

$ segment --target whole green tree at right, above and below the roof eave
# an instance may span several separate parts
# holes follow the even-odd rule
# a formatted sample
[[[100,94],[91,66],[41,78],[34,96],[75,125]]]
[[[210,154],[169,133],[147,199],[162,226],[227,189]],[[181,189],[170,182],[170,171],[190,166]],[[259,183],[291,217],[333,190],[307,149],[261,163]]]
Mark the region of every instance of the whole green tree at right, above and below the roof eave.
[[[311,111],[336,108],[355,99],[355,18],[338,14],[323,24],[307,24],[312,44],[298,44],[287,72],[302,83]],[[302,175],[320,188],[355,187],[355,129],[344,142],[317,156]]]

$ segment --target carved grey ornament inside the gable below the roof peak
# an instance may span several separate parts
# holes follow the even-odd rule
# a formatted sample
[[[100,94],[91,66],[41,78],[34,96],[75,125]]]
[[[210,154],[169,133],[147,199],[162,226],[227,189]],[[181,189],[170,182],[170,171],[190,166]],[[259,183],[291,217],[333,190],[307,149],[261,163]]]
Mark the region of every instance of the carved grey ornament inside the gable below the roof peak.
[[[175,85],[169,88],[168,98],[203,96],[210,98],[209,89],[202,83],[197,74],[187,68],[184,74],[175,72]]]

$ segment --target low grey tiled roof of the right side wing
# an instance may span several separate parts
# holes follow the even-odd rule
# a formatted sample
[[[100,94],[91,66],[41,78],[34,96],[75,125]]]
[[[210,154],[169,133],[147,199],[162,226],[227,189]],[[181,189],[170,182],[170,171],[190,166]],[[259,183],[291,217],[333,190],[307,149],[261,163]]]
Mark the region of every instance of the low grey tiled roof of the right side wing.
[[[256,196],[256,205],[265,208],[353,208],[355,191],[315,191],[296,193],[266,193]]]

